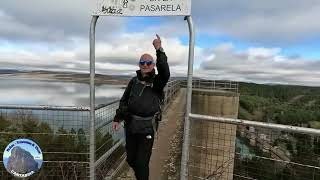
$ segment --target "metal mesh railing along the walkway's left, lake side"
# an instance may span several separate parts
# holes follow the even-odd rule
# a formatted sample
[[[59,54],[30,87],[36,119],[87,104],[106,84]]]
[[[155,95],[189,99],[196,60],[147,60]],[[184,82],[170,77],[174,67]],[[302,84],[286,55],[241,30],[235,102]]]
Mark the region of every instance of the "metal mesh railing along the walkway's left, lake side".
[[[176,96],[180,81],[164,89],[164,108]],[[95,108],[95,166],[98,179],[110,176],[124,153],[123,129],[113,131],[111,123],[119,100]],[[18,138],[35,141],[43,152],[43,166],[37,179],[89,178],[90,109],[87,107],[0,105],[0,155]],[[3,162],[0,162],[3,163]],[[1,179],[11,179],[4,166]]]

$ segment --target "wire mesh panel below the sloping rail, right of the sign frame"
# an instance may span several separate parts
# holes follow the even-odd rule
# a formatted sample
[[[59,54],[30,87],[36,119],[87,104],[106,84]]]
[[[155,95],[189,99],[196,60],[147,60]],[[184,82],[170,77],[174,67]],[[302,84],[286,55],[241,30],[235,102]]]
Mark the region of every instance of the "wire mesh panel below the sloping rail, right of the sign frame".
[[[192,119],[189,179],[320,179],[320,135]]]

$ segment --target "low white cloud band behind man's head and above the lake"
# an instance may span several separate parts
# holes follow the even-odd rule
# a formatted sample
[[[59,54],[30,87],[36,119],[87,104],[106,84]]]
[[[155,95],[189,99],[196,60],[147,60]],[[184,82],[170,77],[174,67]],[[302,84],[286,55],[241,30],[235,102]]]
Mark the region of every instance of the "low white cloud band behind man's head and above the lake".
[[[152,45],[154,38],[154,34],[131,33],[122,34],[109,41],[97,41],[97,70],[106,74],[109,73],[108,70],[112,72],[119,70],[120,74],[136,70],[142,54],[150,53],[156,58]],[[177,38],[162,37],[162,43],[171,66],[187,64],[188,47],[182,45]],[[46,51],[37,48],[30,50],[27,47],[0,49],[0,66],[2,68],[87,71],[89,68],[88,40],[77,39],[76,44],[77,46],[73,48],[48,49]]]

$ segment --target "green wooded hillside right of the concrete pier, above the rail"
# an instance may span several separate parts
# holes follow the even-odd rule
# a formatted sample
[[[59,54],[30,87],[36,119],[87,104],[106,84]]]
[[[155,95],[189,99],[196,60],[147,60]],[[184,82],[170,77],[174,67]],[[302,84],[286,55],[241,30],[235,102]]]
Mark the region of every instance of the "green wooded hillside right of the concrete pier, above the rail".
[[[320,128],[320,87],[240,83],[239,118]]]

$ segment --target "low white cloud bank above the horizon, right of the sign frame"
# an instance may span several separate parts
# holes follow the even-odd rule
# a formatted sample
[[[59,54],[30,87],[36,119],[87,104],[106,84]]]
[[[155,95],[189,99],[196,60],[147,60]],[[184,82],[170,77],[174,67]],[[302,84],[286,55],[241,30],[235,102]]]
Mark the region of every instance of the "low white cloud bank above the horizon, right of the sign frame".
[[[281,55],[280,48],[252,47],[243,51],[234,48],[214,48],[196,71],[200,77],[250,81],[259,83],[289,83],[320,86],[320,61],[290,58]]]

